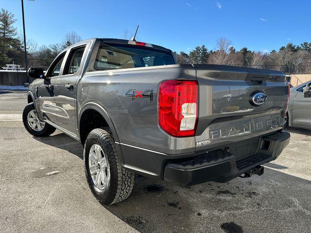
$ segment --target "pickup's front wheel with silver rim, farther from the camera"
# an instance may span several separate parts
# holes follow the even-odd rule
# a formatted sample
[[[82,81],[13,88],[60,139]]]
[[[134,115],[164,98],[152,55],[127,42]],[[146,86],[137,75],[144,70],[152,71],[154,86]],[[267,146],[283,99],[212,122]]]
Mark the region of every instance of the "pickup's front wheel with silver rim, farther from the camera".
[[[36,137],[49,136],[56,130],[48,123],[39,120],[34,102],[27,104],[24,108],[23,123],[28,133]]]

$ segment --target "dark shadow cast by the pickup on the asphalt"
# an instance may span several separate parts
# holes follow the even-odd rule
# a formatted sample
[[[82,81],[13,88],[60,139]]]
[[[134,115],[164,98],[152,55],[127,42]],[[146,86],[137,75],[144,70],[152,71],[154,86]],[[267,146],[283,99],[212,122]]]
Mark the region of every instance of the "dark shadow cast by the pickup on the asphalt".
[[[80,143],[64,133],[34,138],[83,159]],[[142,233],[310,232],[311,182],[267,166],[274,169],[262,176],[190,187],[136,175],[127,200],[103,207]]]

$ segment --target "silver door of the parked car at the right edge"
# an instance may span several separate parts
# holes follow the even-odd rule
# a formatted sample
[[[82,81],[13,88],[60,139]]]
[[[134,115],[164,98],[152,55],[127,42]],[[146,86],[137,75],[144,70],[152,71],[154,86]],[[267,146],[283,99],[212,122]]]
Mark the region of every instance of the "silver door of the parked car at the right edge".
[[[307,83],[307,86],[310,86]],[[305,86],[305,85],[304,85]],[[293,124],[294,126],[311,129],[311,97],[303,97],[303,87],[295,89],[297,93],[293,103]]]

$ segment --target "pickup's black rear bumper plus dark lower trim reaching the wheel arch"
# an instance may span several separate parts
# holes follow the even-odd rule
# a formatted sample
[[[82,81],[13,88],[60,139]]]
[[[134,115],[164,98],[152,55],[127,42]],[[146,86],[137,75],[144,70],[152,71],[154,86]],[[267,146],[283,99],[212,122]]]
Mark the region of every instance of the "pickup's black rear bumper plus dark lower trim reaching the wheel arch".
[[[121,165],[126,169],[187,186],[207,181],[227,182],[275,160],[289,144],[290,136],[287,132],[275,132],[209,150],[173,155],[122,143],[116,146]]]

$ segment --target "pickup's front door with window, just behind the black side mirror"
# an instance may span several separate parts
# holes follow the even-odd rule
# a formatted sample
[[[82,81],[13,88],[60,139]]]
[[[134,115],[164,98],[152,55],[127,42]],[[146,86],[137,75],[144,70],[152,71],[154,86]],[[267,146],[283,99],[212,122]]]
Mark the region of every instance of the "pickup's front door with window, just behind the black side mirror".
[[[54,97],[54,85],[56,77],[62,72],[62,68],[65,64],[66,52],[60,54],[52,63],[51,67],[45,74],[43,83],[38,86],[38,99],[36,101],[37,108],[40,109],[40,118],[49,120],[57,124],[56,119],[56,104]]]

